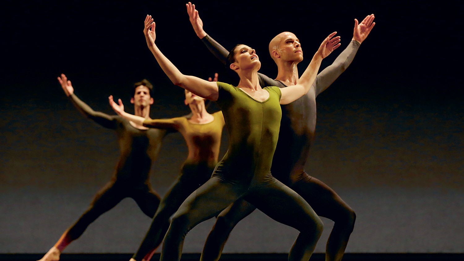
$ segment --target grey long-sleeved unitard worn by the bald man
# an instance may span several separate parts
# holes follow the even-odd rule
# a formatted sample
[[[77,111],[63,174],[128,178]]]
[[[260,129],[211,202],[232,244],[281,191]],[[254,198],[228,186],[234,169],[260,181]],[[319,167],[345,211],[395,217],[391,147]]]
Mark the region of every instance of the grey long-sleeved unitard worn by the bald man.
[[[206,47],[225,65],[229,51],[208,35],[201,39]],[[351,64],[360,43],[352,40],[335,61],[322,70],[306,95],[290,104],[282,105],[282,120],[272,175],[302,196],[319,216],[335,222],[327,242],[327,260],[342,259],[349,236],[354,228],[354,211],[334,190],[304,171],[309,149],[316,131],[316,97],[327,89]],[[261,86],[287,86],[258,73]],[[228,207],[216,221],[201,256],[202,261],[217,261],[233,227],[256,208],[243,199]]]

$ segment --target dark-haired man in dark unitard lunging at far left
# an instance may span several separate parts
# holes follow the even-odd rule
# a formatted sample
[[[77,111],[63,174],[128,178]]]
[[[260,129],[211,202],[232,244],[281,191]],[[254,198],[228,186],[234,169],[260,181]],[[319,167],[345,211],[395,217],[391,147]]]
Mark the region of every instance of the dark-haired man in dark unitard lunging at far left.
[[[95,195],[89,209],[64,231],[55,246],[40,261],[59,260],[63,249],[81,236],[90,223],[125,197],[132,197],[145,215],[153,217],[160,204],[160,196],[151,188],[149,172],[160,151],[161,140],[168,133],[167,130],[144,127],[116,115],[96,112],[77,98],[71,81],[64,74],[58,77],[58,82],[71,102],[87,118],[116,131],[121,156],[110,182]],[[134,104],[135,115],[150,119],[152,89],[147,80],[134,84],[130,102]]]

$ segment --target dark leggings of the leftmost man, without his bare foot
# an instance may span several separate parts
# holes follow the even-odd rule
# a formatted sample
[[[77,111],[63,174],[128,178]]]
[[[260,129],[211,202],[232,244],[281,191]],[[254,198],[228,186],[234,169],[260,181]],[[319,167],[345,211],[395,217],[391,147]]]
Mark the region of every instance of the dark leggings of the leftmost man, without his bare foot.
[[[89,208],[79,217],[76,223],[69,227],[55,244],[60,251],[66,248],[72,241],[79,238],[99,216],[114,208],[123,198],[132,197],[143,213],[149,217],[155,215],[160,204],[160,196],[148,185],[142,184],[136,187],[119,182],[107,183],[92,200]]]

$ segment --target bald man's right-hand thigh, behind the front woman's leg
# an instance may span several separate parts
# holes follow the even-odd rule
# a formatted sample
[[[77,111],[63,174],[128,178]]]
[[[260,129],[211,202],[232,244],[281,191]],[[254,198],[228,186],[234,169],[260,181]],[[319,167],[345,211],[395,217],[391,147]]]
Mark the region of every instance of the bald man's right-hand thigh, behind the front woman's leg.
[[[317,215],[335,221],[342,213],[351,210],[328,185],[306,173],[305,175],[306,177],[299,179],[290,187],[309,203]]]

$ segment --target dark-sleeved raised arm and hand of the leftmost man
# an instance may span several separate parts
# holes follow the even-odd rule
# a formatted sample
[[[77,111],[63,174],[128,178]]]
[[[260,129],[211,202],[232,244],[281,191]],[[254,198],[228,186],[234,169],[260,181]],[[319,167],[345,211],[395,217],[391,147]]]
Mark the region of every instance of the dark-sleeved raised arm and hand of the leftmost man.
[[[111,115],[107,115],[105,113],[94,111],[87,105],[85,102],[81,101],[77,96],[74,94],[74,88],[72,87],[71,81],[68,78],[61,74],[58,77],[58,82],[61,85],[66,96],[69,97],[72,104],[87,118],[97,122],[98,124],[102,125],[103,127],[114,129],[116,127],[115,117]]]

